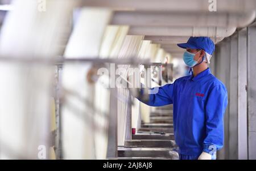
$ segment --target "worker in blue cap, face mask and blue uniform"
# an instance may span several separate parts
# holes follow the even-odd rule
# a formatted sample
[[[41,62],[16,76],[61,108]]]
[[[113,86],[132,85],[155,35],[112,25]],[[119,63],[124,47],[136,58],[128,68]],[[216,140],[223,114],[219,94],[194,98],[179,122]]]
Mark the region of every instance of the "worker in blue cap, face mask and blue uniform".
[[[143,101],[150,106],[173,104],[174,136],[181,160],[216,159],[224,144],[224,113],[228,95],[224,84],[211,74],[207,63],[215,46],[209,37],[190,37],[177,44],[186,49],[183,60],[191,75],[159,87]],[[141,93],[147,93],[141,89]]]

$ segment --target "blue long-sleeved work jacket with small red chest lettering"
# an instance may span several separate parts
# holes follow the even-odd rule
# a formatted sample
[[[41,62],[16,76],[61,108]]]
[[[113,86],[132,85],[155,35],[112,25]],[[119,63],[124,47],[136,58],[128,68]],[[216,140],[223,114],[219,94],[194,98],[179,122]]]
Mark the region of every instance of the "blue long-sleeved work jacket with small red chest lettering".
[[[227,94],[224,84],[208,68],[195,77],[184,76],[159,87],[158,93],[142,102],[150,106],[174,104],[174,136],[180,154],[196,156],[222,148]]]

